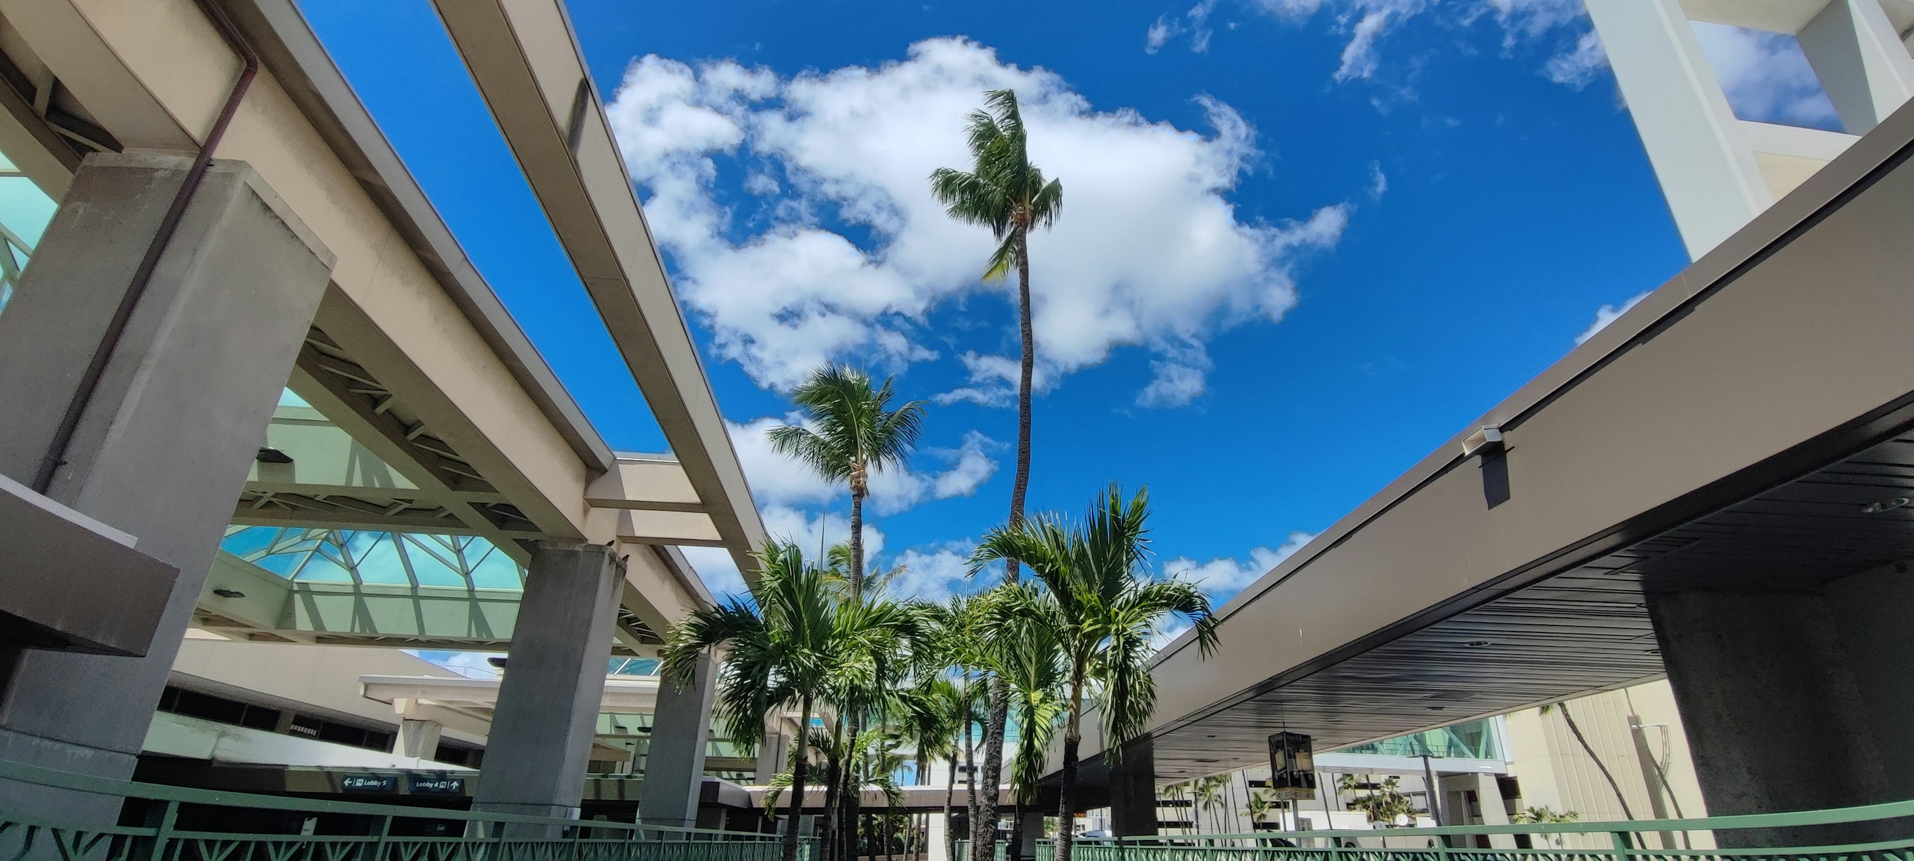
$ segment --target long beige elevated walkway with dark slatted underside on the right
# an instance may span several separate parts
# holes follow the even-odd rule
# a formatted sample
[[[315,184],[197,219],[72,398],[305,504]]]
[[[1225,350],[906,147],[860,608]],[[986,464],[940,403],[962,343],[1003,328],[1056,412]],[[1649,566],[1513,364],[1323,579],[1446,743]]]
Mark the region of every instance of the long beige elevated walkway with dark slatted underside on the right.
[[[1903,109],[1242,589],[1217,612],[1210,660],[1189,635],[1171,641],[1154,668],[1154,781],[1267,763],[1279,729],[1334,750],[1673,673],[1652,612],[1667,595],[1770,595],[1761,607],[1776,616],[1759,624],[1780,624],[1793,603],[1799,618],[1822,614],[1803,624],[1830,643],[1891,629],[1843,608],[1834,618],[1855,624],[1830,628],[1836,597],[1822,605],[1822,591],[1864,572],[1891,580],[1914,559],[1910,142]],[[1899,607],[1876,595],[1857,601]],[[1698,729],[1692,716],[1717,695],[1707,687],[1738,675],[1830,662],[1847,673],[1849,660],[1876,672],[1834,651],[1797,652],[1799,668],[1784,651],[1744,651],[1736,668],[1740,649],[1698,681],[1675,679],[1679,696],[1694,695],[1682,716],[1698,750],[1749,750],[1761,725],[1816,737],[1807,727],[1824,718],[1807,714],[1818,702],[1864,721],[1860,702],[1901,696],[1883,687],[1876,704],[1864,679],[1858,698],[1843,681],[1845,693],[1795,693],[1788,710],[1755,706],[1774,696],[1723,700],[1711,714],[1725,723]],[[1786,723],[1795,710],[1803,723]],[[1087,731],[1085,760],[1101,750]],[[1836,760],[1832,781],[1849,769]],[[1751,760],[1732,762],[1753,773]],[[1101,763],[1085,769],[1102,777]],[[1883,792],[1880,777],[1855,781]]]

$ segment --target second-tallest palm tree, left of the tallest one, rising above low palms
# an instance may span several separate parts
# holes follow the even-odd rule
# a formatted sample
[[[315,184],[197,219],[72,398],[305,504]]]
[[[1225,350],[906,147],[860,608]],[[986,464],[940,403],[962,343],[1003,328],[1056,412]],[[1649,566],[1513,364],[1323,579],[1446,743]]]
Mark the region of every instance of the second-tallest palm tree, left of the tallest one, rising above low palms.
[[[819,367],[790,392],[813,427],[771,429],[771,448],[796,457],[829,482],[850,484],[850,595],[863,597],[863,497],[871,473],[903,465],[924,430],[924,402],[890,409],[890,379],[873,388],[854,367]]]

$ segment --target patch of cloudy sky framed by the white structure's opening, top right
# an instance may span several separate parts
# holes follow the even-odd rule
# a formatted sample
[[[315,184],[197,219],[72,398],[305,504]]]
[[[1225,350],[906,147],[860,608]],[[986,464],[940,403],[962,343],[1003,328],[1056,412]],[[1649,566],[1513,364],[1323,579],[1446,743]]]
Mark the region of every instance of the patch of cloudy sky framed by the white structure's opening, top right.
[[[1694,21],[1694,38],[1736,117],[1839,128],[1834,103],[1793,36]]]

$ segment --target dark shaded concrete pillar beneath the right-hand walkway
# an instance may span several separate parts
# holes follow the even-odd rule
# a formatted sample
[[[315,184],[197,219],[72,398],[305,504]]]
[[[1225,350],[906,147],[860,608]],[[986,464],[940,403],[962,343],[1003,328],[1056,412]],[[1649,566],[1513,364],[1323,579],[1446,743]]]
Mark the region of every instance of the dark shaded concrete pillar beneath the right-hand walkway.
[[[1881,635],[1897,633],[1914,608],[1904,585],[1901,595],[1853,585],[1860,595],[1836,603],[1904,601],[1874,607],[1876,614],[1891,614],[1881,620]],[[1830,599],[1809,593],[1684,591],[1652,601],[1648,610],[1709,815],[1901,798],[1887,765],[1904,771],[1904,763],[1883,763],[1881,733],[1868,719],[1857,662],[1841,643],[1841,628],[1870,624],[1870,616],[1837,618]],[[1904,660],[1906,651],[1897,645],[1858,662],[1883,706],[1887,693],[1908,696],[1906,664],[1893,664]],[[1891,735],[1901,735],[1899,725]],[[1749,828],[1717,832],[1717,840],[1723,846],[1813,846],[1887,840],[1904,830],[1899,823]]]

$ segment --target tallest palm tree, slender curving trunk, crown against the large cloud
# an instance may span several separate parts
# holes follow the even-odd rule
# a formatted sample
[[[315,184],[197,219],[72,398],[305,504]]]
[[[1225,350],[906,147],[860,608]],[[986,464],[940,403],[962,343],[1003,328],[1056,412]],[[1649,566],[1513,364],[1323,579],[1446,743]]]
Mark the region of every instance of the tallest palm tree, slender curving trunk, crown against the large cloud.
[[[930,193],[951,218],[990,228],[997,251],[990,254],[984,279],[993,281],[1016,268],[1016,320],[1022,342],[1022,367],[1016,379],[1016,478],[1011,482],[1011,524],[1024,522],[1024,492],[1030,488],[1030,381],[1035,371],[1037,346],[1030,323],[1030,232],[1049,228],[1064,205],[1058,180],[1043,180],[1043,170],[1030,163],[1030,136],[1024,115],[1016,107],[1014,90],[990,90],[984,109],[972,111],[967,130],[970,170],[936,168],[930,172]],[[1016,561],[1003,568],[1007,584],[1016,582]],[[990,800],[982,819],[970,823],[970,857],[990,861],[988,832],[997,827],[997,781],[1003,775],[1003,723],[1009,714],[1009,691],[991,685],[990,723],[984,731],[984,779]],[[988,825],[988,828],[986,828]]]

